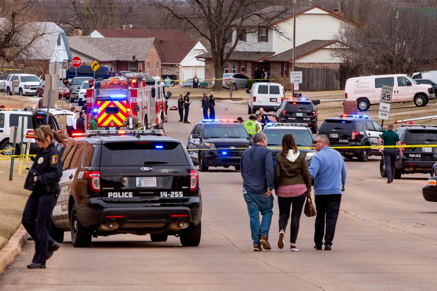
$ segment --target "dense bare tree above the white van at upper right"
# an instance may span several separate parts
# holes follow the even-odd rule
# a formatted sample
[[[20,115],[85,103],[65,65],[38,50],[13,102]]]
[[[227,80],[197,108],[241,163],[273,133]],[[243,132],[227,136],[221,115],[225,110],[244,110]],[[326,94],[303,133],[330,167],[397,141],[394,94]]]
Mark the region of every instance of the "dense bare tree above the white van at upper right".
[[[436,19],[421,9],[397,9],[391,2],[373,5],[364,27],[344,26],[333,55],[344,77],[368,74],[412,74],[437,67]]]

